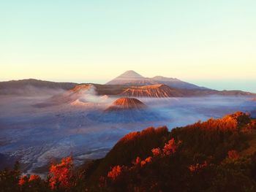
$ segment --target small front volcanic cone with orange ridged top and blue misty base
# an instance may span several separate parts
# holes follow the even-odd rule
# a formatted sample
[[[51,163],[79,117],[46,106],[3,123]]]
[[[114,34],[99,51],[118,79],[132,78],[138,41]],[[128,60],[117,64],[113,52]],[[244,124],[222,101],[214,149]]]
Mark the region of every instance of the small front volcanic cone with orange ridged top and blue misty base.
[[[158,120],[157,114],[146,104],[135,98],[120,98],[103,112],[92,112],[87,115],[91,120],[106,123],[132,123],[138,121]]]

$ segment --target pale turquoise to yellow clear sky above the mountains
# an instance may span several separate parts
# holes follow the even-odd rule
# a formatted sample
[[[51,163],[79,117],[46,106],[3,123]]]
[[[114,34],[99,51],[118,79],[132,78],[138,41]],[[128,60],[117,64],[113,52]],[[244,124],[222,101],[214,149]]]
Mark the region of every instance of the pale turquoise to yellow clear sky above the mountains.
[[[255,0],[0,0],[0,80],[127,70],[256,92]]]

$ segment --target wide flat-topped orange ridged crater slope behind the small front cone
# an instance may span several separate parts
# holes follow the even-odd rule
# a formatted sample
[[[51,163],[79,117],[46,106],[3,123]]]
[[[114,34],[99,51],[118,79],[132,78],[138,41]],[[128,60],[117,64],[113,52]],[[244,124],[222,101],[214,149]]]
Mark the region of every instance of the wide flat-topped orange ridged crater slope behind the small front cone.
[[[184,94],[167,85],[157,84],[127,88],[126,91],[121,93],[121,96],[163,98],[184,96]]]

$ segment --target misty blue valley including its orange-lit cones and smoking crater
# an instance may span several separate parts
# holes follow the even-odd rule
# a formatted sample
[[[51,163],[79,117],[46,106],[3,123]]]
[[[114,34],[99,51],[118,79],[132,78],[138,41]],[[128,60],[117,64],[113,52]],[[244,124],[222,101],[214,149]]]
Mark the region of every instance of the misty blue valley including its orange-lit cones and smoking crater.
[[[129,82],[138,82],[134,76]],[[236,111],[256,115],[254,94],[242,91],[34,82],[0,89],[1,165],[19,160],[30,174],[44,174],[50,161],[70,154],[76,165],[102,158],[125,134],[146,127],[171,129]]]

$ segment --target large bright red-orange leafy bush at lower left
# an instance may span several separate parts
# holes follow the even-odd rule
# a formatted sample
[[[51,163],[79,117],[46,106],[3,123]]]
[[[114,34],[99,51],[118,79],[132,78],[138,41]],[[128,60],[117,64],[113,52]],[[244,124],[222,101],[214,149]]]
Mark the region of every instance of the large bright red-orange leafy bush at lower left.
[[[61,164],[52,164],[50,166],[50,187],[56,188],[56,185],[59,185],[69,188],[71,186],[72,166],[72,157],[63,158]]]

